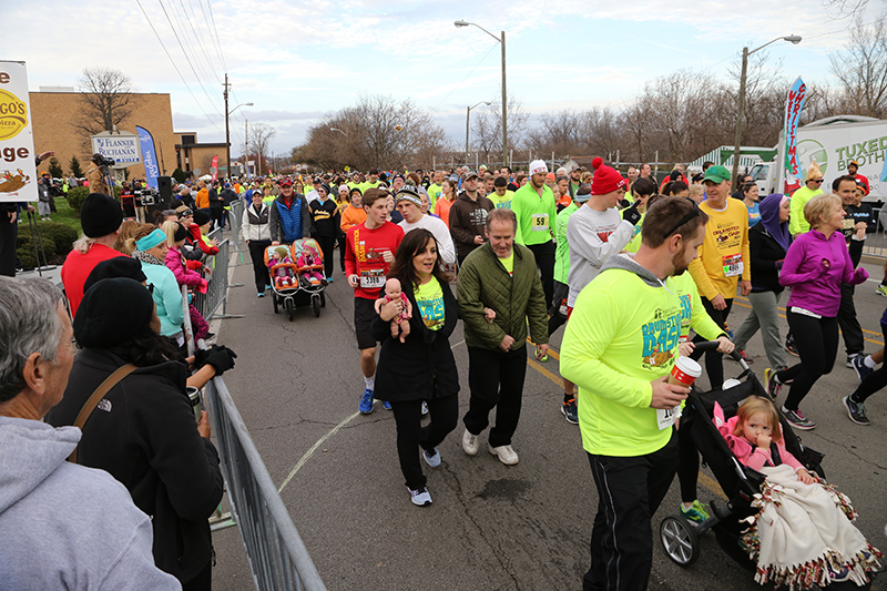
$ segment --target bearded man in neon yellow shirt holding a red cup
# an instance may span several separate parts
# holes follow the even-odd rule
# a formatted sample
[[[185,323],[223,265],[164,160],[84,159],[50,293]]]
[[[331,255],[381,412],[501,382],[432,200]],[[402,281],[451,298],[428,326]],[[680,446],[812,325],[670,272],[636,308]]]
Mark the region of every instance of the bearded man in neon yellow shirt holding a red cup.
[[[579,386],[579,426],[599,499],[585,590],[648,587],[651,518],[677,468],[670,410],[690,391],[666,381],[683,317],[671,277],[696,257],[706,221],[691,200],[661,198],[646,216],[638,253],[613,256],[567,323],[561,373]],[[714,323],[699,328],[723,335]],[[724,351],[732,349],[724,336],[718,340]]]

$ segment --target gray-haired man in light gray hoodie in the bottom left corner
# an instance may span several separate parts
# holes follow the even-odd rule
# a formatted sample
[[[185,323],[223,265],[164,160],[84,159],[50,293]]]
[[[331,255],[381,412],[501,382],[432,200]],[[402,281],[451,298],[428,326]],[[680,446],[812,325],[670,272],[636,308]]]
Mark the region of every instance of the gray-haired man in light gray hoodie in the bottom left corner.
[[[181,589],[126,489],[65,461],[80,429],[41,420],[68,384],[71,334],[51,282],[0,277],[0,588]]]

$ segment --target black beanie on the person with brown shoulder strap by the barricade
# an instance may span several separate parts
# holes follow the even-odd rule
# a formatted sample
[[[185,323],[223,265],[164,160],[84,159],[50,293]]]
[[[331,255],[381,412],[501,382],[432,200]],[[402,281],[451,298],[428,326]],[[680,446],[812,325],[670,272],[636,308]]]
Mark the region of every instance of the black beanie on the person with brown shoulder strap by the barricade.
[[[74,337],[83,347],[112,348],[149,330],[154,299],[128,277],[102,279],[83,296],[74,316]]]

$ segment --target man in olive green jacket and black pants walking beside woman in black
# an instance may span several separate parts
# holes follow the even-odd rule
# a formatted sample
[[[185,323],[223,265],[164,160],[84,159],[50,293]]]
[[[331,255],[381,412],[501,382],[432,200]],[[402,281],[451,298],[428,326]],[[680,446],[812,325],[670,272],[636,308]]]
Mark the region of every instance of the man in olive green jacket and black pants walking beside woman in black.
[[[489,450],[507,466],[518,463],[511,437],[520,419],[527,374],[528,320],[537,358],[548,354],[546,296],[533,253],[514,243],[517,226],[511,210],[491,211],[486,221],[488,242],[466,257],[458,283],[471,390],[462,449],[469,456],[478,452],[478,436],[496,408]]]

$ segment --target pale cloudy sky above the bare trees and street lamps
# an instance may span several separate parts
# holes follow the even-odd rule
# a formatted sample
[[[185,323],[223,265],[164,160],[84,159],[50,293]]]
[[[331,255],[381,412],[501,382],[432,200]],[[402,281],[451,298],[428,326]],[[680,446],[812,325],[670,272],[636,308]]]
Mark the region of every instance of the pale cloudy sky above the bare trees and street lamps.
[[[227,71],[231,108],[255,103],[232,115],[233,146],[241,145],[245,118],[275,128],[272,147],[282,153],[303,143],[318,118],[360,94],[412,99],[460,145],[466,106],[500,100],[501,50],[478,28],[453,27],[459,19],[497,35],[506,31],[509,94],[532,116],[619,108],[646,81],[684,68],[726,80],[743,45],[788,34],[804,40],[774,43],[765,50],[768,63],[786,78],[832,83],[828,53],[850,34],[850,21],[823,0],[599,4],[95,0],[74,7],[43,0],[39,7],[4,7],[4,21],[19,24],[4,30],[0,59],[26,61],[31,90],[75,85],[86,67],[121,70],[137,91],[169,92],[175,131],[196,131],[203,142],[224,141]],[[885,7],[884,0],[871,4],[865,22]]]

